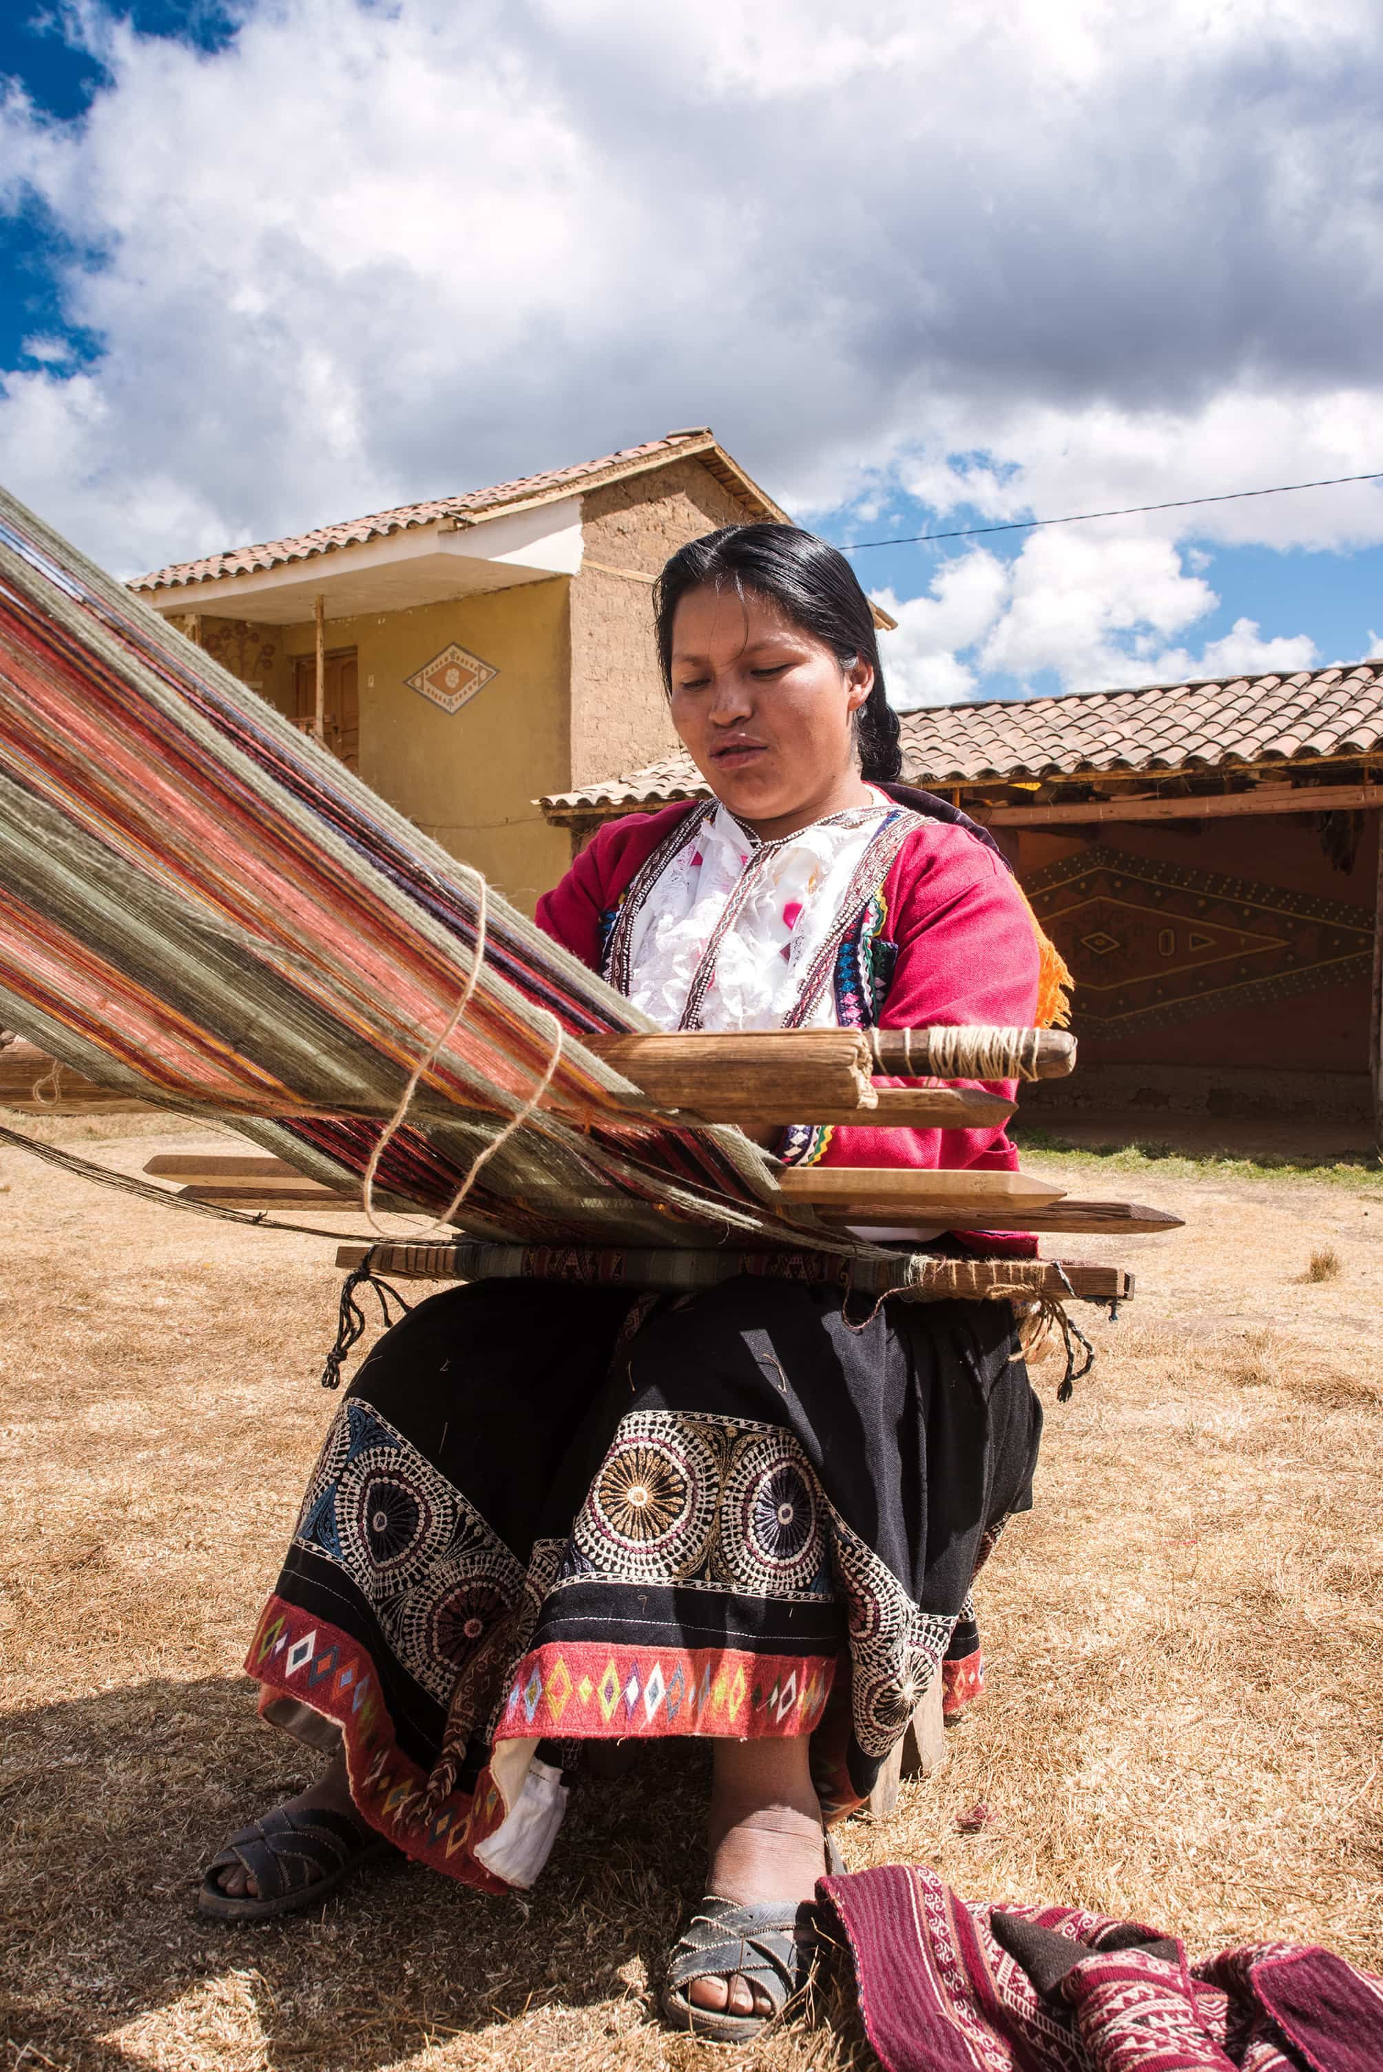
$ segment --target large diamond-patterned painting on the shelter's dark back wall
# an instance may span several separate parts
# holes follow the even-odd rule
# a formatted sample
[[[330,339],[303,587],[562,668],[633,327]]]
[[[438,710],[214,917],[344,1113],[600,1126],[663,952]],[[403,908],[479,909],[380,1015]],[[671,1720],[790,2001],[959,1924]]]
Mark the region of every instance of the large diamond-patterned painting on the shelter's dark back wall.
[[[1025,881],[1077,982],[1077,1028],[1118,1036],[1366,980],[1373,910],[1093,847]]]

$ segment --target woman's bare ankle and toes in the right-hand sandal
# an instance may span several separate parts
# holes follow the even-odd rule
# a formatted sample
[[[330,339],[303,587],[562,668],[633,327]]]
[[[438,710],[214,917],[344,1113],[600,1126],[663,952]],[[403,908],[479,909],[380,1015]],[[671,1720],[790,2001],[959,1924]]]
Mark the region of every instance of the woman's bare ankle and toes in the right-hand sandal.
[[[793,1906],[816,1896],[826,1857],[805,1738],[716,1743],[708,1844],[706,1892],[718,1900]],[[772,2014],[764,1989],[739,1973],[694,1979],[685,1991],[708,2014]]]

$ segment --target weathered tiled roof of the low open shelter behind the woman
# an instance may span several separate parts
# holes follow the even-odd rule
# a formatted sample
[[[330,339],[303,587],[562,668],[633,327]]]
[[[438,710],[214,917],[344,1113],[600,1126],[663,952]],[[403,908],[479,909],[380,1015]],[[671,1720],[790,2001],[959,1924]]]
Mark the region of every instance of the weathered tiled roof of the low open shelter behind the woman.
[[[1244,762],[1313,762],[1383,752],[1383,661],[1240,675],[1232,682],[1147,684],[1066,698],[983,698],[903,715],[903,767],[913,783],[1002,783]],[[706,798],[689,756],[540,800],[549,812],[605,812]]]

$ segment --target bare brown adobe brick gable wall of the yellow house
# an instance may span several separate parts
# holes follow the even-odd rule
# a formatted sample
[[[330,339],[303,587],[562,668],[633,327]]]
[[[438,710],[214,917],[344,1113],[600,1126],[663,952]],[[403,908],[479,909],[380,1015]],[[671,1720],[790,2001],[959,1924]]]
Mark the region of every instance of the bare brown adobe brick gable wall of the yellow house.
[[[656,576],[669,553],[747,510],[698,460],[582,499],[588,562]],[[569,789],[636,771],[677,748],[652,640],[650,584],[582,568],[571,580]]]

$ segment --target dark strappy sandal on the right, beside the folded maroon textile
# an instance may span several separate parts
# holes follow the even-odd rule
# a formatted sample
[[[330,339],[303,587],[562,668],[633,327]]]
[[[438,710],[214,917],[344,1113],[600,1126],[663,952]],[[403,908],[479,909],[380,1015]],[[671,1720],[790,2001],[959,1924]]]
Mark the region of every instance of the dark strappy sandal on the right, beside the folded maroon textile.
[[[747,2043],[801,1993],[820,1948],[812,1900],[737,1906],[735,1900],[706,1898],[669,1958],[663,2014],[673,2028],[689,2028],[712,2043]],[[768,1997],[768,2014],[716,2014],[687,1997],[698,1979],[733,1977]]]

